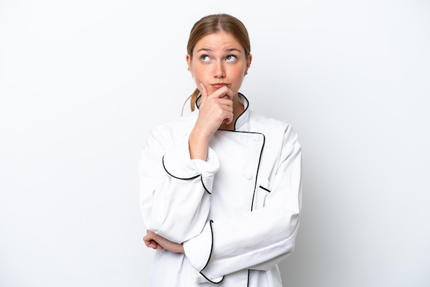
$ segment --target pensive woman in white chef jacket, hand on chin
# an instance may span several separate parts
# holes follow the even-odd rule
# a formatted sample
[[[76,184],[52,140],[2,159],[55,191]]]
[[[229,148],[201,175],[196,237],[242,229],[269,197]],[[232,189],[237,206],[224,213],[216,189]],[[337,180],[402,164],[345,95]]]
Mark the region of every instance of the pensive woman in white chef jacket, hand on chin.
[[[186,60],[197,109],[153,128],[139,167],[150,286],[282,286],[302,205],[297,135],[238,92],[252,60],[238,19],[197,21]]]

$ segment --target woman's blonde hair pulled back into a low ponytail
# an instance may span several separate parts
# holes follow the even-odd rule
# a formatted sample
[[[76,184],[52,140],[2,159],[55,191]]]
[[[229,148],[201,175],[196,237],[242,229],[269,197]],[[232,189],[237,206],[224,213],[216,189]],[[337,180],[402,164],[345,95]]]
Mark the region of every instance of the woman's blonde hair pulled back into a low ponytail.
[[[229,14],[212,14],[204,16],[202,19],[197,21],[191,29],[187,45],[187,52],[190,55],[190,59],[192,60],[194,46],[201,38],[208,34],[221,31],[234,36],[240,45],[242,45],[243,49],[245,49],[245,56],[248,58],[251,53],[251,42],[249,41],[249,35],[245,25],[243,25],[239,19]],[[190,99],[191,111],[194,111],[196,100],[199,95],[199,89],[195,89],[190,97],[185,100],[186,103]],[[185,103],[183,104],[183,107],[185,106]]]

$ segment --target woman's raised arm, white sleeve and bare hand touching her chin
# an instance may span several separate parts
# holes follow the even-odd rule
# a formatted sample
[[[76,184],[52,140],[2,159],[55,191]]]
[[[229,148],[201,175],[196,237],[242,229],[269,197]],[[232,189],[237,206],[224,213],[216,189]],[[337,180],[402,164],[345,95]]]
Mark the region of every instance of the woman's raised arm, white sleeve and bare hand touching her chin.
[[[177,243],[199,235],[205,225],[219,168],[208,142],[220,124],[233,118],[230,89],[223,87],[211,95],[203,84],[201,89],[199,117],[188,140],[172,135],[177,127],[152,130],[139,165],[146,229]]]

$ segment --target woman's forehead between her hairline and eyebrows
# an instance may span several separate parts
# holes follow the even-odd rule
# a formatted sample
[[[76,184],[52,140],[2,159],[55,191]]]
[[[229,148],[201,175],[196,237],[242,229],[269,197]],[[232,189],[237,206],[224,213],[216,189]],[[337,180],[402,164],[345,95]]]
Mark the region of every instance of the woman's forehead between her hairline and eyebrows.
[[[238,49],[240,51],[245,51],[239,41],[232,34],[223,31],[207,34],[197,41],[194,46],[194,51],[202,49],[213,51]]]

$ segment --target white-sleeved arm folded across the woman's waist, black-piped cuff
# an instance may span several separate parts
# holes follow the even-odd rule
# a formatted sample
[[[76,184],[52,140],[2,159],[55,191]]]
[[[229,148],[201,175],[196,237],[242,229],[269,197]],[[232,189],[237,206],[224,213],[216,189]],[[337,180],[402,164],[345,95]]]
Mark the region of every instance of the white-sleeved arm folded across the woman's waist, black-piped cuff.
[[[212,225],[207,222],[199,236],[184,242],[185,255],[205,277],[220,278],[246,268],[269,270],[293,251],[302,190],[301,148],[291,127],[274,172],[263,208]]]

